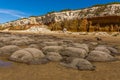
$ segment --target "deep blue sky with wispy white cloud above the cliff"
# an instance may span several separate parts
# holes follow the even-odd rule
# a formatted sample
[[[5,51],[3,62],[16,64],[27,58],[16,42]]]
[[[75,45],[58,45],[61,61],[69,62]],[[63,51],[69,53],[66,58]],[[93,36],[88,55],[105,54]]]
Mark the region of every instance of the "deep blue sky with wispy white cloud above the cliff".
[[[51,11],[81,9],[120,0],[0,0],[0,23]]]

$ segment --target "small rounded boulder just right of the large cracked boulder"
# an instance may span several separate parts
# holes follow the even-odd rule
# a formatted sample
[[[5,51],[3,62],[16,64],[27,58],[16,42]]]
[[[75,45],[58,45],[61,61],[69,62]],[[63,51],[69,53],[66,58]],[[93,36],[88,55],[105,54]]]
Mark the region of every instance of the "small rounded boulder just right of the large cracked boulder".
[[[50,61],[60,61],[62,60],[62,56],[56,52],[49,52],[46,55],[46,58]]]

